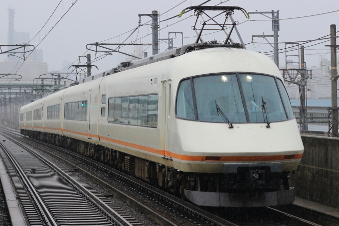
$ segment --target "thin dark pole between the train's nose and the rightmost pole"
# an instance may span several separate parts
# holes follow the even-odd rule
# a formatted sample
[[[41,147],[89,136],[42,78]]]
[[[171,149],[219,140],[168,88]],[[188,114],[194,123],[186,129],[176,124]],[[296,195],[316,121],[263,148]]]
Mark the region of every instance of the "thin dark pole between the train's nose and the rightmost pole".
[[[307,109],[306,109],[306,97],[305,97],[305,50],[304,46],[300,46],[300,58],[301,58],[301,85],[300,85],[300,109],[299,109],[299,124],[301,124],[301,130],[307,130]]]

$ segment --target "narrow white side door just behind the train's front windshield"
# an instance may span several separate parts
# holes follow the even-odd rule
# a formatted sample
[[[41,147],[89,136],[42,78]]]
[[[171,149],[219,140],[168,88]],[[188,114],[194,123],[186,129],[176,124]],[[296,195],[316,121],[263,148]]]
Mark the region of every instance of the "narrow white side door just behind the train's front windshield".
[[[164,158],[171,159],[169,156],[169,121],[170,121],[170,90],[171,90],[171,81],[165,80],[162,81],[162,143],[164,150]]]

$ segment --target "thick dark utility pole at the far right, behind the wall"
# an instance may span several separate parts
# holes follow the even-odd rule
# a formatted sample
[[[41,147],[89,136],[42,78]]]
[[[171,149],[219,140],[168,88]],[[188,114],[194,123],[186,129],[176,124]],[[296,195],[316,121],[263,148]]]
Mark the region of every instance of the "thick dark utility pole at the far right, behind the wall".
[[[336,24],[331,24],[331,88],[332,88],[332,136],[338,137],[338,96],[337,96],[337,38]]]

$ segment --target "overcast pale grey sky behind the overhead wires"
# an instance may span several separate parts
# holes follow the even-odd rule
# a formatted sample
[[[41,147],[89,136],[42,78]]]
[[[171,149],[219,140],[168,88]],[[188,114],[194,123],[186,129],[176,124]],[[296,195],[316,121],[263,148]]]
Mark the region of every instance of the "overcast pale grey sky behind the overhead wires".
[[[52,14],[60,0],[1,0],[0,1],[0,43],[7,44],[8,33],[8,5],[15,8],[14,30],[19,32],[29,32],[30,38],[41,29],[48,17]],[[71,6],[76,0],[63,0],[62,13]],[[170,8],[179,4],[183,0],[77,0],[73,7],[60,20],[60,22],[52,29],[47,37],[37,47],[43,50],[43,59],[48,64],[48,70],[61,70],[64,60],[73,62],[77,60],[78,55],[86,52],[86,44],[99,42],[120,35],[128,30],[131,30],[138,25],[138,14],[151,13],[152,10],[160,11],[160,14],[166,12]],[[178,14],[183,8],[202,3],[204,0],[186,0],[177,7],[170,10],[161,16],[161,20]],[[220,0],[211,0],[206,5],[215,5],[220,3]],[[229,0],[221,5],[241,6],[247,11],[270,11],[280,10],[280,19],[307,16],[312,14],[325,13],[329,11],[339,10],[338,0]],[[61,7],[59,6],[54,15],[53,23],[60,19]],[[270,15],[268,15],[270,16]],[[187,19],[184,19],[189,17]],[[236,11],[234,19],[243,22],[247,19],[240,12]],[[319,38],[330,33],[330,24],[337,24],[339,30],[339,11],[318,15],[313,17],[280,20],[279,42],[287,41],[302,41]],[[184,19],[184,20],[182,20]],[[161,38],[167,38],[168,32],[183,32],[184,44],[195,41],[195,32],[190,29],[194,24],[194,16],[190,13],[184,14],[181,18],[173,18],[168,22],[160,24]],[[251,15],[252,20],[269,19],[263,15]],[[148,17],[142,18],[142,23],[147,22]],[[182,20],[182,21],[180,21]],[[180,21],[180,22],[178,22]],[[175,23],[177,22],[177,23]],[[171,25],[172,23],[175,23]],[[168,26],[168,27],[167,27]],[[52,21],[48,21],[46,28],[40,32],[40,40],[45,35],[45,30],[48,32],[52,27]],[[241,37],[244,43],[251,42],[252,35],[261,35],[265,32],[266,35],[272,35],[272,21],[247,21],[238,25]],[[139,30],[138,39],[142,43],[150,43],[152,41],[151,28],[143,26]],[[119,40],[124,40],[126,35],[119,37]],[[146,36],[146,37],[144,37]],[[236,34],[232,35],[235,40]],[[133,39],[137,38],[137,34],[133,34]],[[224,40],[225,35],[221,32],[206,35],[204,40]],[[38,44],[39,35],[35,38],[35,45]],[[268,38],[273,42],[273,38]],[[131,38],[128,40],[131,41]],[[262,38],[255,38],[254,41],[261,42]],[[111,39],[109,42],[118,42],[118,38]],[[139,41],[138,41],[139,42]],[[265,40],[263,43],[266,42]],[[34,40],[31,42],[34,44]],[[175,46],[180,45],[181,40],[176,39]],[[305,46],[315,44],[316,42],[305,44]],[[323,43],[305,51],[305,59],[307,66],[317,66],[319,64],[319,54],[329,53],[330,50]],[[161,51],[164,51],[167,44],[161,45]],[[253,51],[272,51],[273,48],[269,44],[248,44],[247,49]],[[280,48],[285,48],[285,44],[280,44]],[[132,53],[132,48],[124,47],[122,51]],[[151,47],[146,50],[151,55]],[[92,59],[94,58],[94,52]],[[312,55],[311,55],[312,54]],[[280,54],[280,65],[285,64],[285,53]],[[329,54],[326,54],[330,58]],[[6,58],[0,55],[0,61]],[[123,61],[125,56],[113,53],[113,56],[107,56],[94,64],[99,67],[99,71],[93,70],[93,73],[105,71],[116,66],[120,61]],[[93,59],[94,60],[94,59]],[[82,60],[84,61],[84,59]]]

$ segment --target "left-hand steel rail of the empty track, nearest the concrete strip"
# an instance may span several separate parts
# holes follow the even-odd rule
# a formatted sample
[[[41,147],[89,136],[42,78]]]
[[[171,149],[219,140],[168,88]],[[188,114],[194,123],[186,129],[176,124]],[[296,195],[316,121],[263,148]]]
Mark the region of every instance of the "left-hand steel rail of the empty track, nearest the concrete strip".
[[[36,201],[36,205],[40,208],[41,214],[44,216],[45,221],[51,226],[58,226],[58,224],[54,221],[52,215],[50,214],[48,208],[45,206],[45,204],[41,200],[41,197],[39,196],[38,192],[35,190],[33,185],[30,183],[30,180],[28,179],[26,174],[23,172],[23,170],[21,169],[21,167],[19,166],[17,161],[14,159],[12,154],[8,151],[8,149],[2,143],[0,143],[0,147],[5,152],[7,158],[9,159],[9,161],[11,162],[13,167],[15,168],[19,177],[21,177],[23,179],[24,183],[27,185],[27,188],[28,188],[30,194],[32,194],[32,196],[34,197],[34,200]]]

